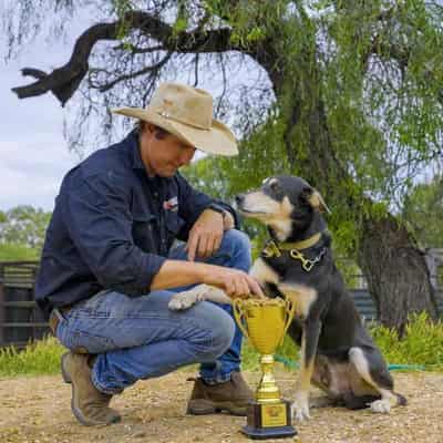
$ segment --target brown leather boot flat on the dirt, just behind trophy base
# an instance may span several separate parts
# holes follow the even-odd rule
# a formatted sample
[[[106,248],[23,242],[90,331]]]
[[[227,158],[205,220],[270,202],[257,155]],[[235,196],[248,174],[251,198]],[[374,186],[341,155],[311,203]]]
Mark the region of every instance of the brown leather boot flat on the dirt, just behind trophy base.
[[[206,384],[200,378],[194,380],[194,389],[186,413],[193,415],[214,414],[226,411],[233,415],[246,415],[246,406],[254,400],[254,393],[239,372],[233,372],[230,380]]]

